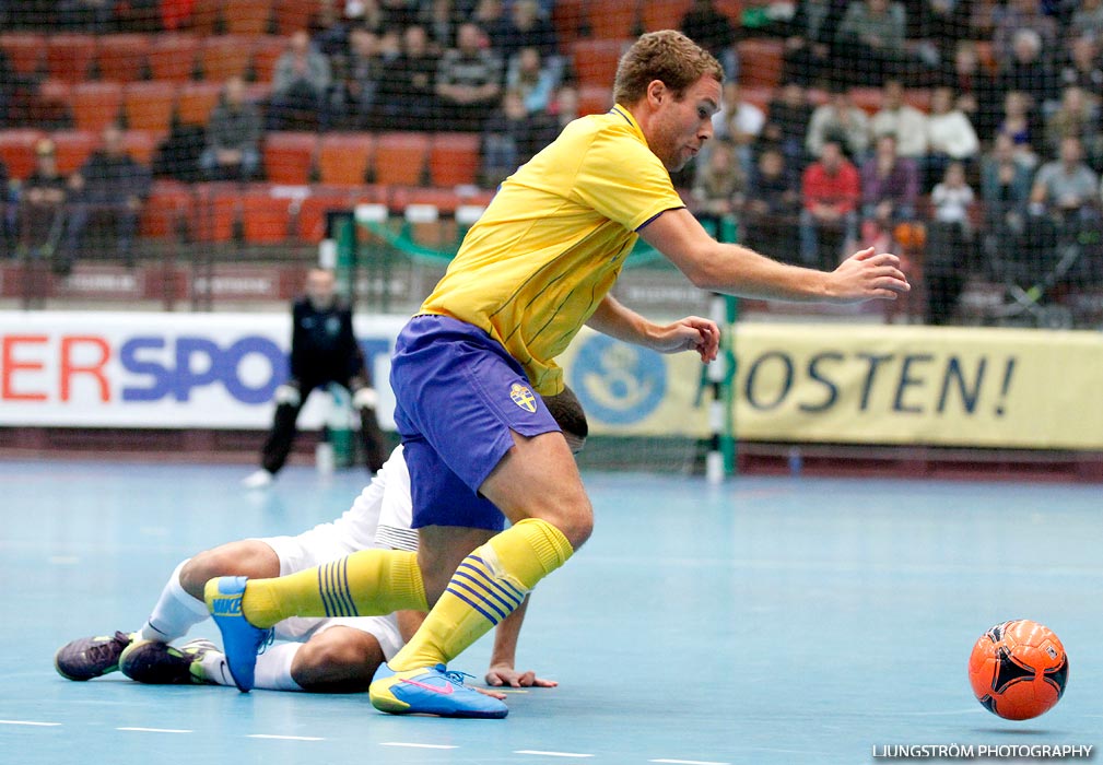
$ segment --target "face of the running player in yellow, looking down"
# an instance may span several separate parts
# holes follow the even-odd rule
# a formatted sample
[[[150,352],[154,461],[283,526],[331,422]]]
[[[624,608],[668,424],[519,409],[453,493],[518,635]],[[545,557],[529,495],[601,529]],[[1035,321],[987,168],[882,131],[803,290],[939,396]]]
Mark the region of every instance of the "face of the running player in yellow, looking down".
[[[658,103],[655,128],[647,137],[655,152],[671,172],[682,170],[713,137],[713,115],[720,104],[720,84],[704,75],[682,94],[681,99],[665,89]]]

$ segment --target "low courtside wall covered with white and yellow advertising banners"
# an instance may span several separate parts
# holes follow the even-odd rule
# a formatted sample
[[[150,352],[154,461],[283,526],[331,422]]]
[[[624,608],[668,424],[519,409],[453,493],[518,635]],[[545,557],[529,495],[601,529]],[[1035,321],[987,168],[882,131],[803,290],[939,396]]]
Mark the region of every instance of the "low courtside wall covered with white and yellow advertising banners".
[[[403,323],[356,317],[387,429]],[[282,313],[0,312],[0,451],[255,451],[289,336]],[[735,360],[745,470],[1016,475],[1021,463],[1103,480],[1097,333],[741,323]],[[657,454],[708,435],[689,354],[586,331],[563,366],[598,442]],[[317,431],[324,416],[314,397],[300,424]]]

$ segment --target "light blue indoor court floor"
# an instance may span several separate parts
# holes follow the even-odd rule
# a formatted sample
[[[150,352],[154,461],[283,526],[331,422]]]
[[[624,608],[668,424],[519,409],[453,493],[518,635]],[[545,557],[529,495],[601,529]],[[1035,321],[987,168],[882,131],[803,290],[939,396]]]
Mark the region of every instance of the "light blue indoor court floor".
[[[184,557],[329,520],[364,480],[292,467],[257,494],[247,471],[0,462],[0,763],[825,765],[1103,745],[1103,503],[1084,485],[589,474],[597,530],[537,589],[520,650],[559,687],[512,694],[504,721],[57,676],[60,645],[137,628]],[[965,674],[981,633],[1017,617],[1053,628],[1071,665],[1057,708],[1024,723],[984,710]],[[453,667],[481,678],[488,657],[484,639]]]

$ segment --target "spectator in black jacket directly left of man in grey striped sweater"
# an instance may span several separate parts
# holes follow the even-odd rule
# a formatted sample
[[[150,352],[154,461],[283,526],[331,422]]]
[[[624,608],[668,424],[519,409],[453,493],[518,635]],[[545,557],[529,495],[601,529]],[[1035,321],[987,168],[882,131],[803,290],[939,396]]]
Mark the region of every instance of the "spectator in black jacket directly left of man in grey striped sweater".
[[[437,112],[438,67],[426,29],[407,26],[400,55],[384,65],[379,77],[381,123],[397,130],[422,130],[430,125]]]

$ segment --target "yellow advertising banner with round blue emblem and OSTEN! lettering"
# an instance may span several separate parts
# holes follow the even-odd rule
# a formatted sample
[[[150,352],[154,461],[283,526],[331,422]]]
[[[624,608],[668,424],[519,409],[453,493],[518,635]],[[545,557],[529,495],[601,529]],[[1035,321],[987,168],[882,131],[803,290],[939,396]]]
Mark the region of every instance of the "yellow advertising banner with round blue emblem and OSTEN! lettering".
[[[739,324],[736,434],[756,441],[1103,449],[1103,334]],[[703,367],[583,333],[561,358],[596,433],[708,433]]]

